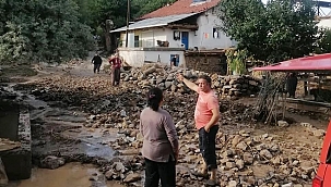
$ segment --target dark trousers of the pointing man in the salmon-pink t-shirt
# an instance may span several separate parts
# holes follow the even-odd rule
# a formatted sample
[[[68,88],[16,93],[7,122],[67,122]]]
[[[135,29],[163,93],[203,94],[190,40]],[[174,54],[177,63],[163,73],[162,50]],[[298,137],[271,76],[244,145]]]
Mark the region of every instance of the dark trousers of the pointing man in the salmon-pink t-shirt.
[[[211,127],[206,133],[204,128],[199,129],[199,148],[208,170],[217,169],[216,164],[216,134],[218,125]]]

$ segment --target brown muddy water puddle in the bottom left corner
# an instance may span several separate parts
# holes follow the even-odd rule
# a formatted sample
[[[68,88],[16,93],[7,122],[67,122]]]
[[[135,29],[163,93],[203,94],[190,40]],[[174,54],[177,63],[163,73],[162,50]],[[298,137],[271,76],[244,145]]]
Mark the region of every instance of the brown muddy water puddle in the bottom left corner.
[[[104,178],[91,164],[68,163],[57,170],[33,169],[29,179],[11,182],[8,187],[125,187],[106,179],[92,182],[92,176]]]

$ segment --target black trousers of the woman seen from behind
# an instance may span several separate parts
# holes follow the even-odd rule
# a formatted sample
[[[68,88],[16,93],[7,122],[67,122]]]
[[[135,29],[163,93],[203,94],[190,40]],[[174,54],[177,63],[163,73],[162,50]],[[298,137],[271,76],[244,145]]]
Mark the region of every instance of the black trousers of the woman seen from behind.
[[[176,186],[176,162],[170,159],[168,162],[154,162],[145,158],[144,187],[158,187],[159,179],[162,187]]]

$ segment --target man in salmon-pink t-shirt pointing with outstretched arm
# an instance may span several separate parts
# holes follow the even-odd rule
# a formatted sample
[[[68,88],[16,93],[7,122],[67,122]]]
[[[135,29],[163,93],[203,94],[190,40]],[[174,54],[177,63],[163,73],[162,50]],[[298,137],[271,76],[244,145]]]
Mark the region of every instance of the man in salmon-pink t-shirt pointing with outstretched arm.
[[[194,111],[196,127],[199,130],[199,148],[203,158],[201,171],[191,171],[196,176],[208,177],[211,172],[208,185],[215,186],[216,183],[216,152],[215,139],[218,130],[217,122],[220,120],[218,98],[211,88],[211,78],[208,75],[198,77],[198,85],[186,79],[181,74],[177,79],[186,84],[190,89],[198,92],[198,101]]]

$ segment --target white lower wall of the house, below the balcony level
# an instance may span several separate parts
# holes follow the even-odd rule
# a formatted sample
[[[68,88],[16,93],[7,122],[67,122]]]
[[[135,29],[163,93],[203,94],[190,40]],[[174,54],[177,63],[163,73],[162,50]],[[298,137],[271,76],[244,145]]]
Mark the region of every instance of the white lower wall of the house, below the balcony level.
[[[185,64],[184,49],[178,48],[118,48],[119,55],[131,66],[142,66],[145,62],[170,64],[170,54],[179,55],[179,65]],[[159,58],[159,60],[158,60]]]

